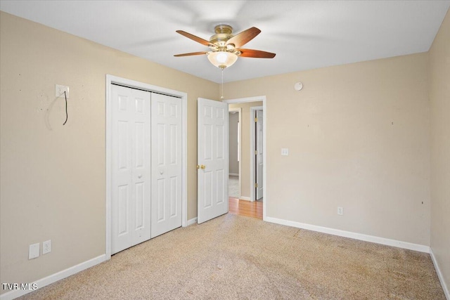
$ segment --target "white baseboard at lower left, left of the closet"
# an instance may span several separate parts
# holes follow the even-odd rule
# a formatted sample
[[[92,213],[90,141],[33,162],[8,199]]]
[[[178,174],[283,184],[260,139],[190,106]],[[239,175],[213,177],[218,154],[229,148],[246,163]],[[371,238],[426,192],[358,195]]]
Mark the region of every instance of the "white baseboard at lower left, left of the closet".
[[[79,263],[75,266],[72,266],[70,268],[67,268],[65,270],[62,270],[58,273],[54,273],[52,275],[47,276],[46,278],[41,278],[35,282],[32,282],[32,284],[37,285],[37,289],[40,289],[41,287],[45,287],[46,285],[51,285],[54,282],[57,282],[61,279],[68,278],[71,275],[74,275],[76,273],[81,272],[82,270],[86,270],[87,268],[91,268],[93,266],[98,265],[98,263],[103,263],[103,261],[106,261],[106,255],[102,254],[101,256],[97,256],[94,259],[89,259],[89,261],[84,261],[82,263]],[[0,300],[11,300],[18,298],[20,296],[23,296],[25,294],[28,294],[30,292],[33,292],[37,289],[14,289],[11,292],[6,292],[4,294],[0,295]]]

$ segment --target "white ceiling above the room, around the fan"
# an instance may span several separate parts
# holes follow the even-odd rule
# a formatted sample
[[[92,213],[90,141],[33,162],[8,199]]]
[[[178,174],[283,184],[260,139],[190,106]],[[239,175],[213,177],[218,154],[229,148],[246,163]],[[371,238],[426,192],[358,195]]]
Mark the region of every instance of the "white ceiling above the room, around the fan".
[[[273,59],[239,58],[236,81],[428,51],[450,1],[8,1],[0,9],[198,77],[221,82],[207,51],[177,34],[210,39],[214,25],[262,32],[245,48]],[[58,43],[58,41],[54,41]]]

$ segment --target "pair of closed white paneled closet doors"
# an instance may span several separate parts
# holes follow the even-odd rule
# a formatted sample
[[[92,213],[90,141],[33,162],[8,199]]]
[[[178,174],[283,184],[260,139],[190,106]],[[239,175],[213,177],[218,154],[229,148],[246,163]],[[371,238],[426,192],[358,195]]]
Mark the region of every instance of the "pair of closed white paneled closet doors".
[[[111,87],[111,253],[181,226],[181,100]]]

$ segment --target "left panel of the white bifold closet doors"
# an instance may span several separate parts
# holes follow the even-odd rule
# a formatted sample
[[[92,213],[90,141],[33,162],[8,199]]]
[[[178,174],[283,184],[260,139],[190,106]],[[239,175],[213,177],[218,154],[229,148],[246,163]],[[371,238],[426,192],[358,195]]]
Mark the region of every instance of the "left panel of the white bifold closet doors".
[[[150,239],[150,93],[113,85],[111,253]]]

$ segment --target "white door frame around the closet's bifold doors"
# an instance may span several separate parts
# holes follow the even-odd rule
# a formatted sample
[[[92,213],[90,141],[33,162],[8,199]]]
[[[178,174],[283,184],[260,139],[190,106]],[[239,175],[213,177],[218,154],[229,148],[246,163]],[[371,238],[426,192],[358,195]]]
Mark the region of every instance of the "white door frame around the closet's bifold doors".
[[[166,89],[161,86],[153,86],[140,81],[134,81],[122,77],[106,74],[105,84],[105,171],[106,171],[106,193],[105,193],[105,259],[111,259],[111,148],[112,148],[112,118],[111,118],[111,84],[127,86],[131,89],[141,89],[143,91],[163,93],[169,96],[175,96],[181,100],[181,124],[183,126],[181,133],[181,159],[182,163],[182,182],[181,182],[181,226],[188,226],[188,94]]]

